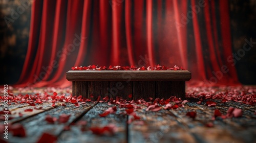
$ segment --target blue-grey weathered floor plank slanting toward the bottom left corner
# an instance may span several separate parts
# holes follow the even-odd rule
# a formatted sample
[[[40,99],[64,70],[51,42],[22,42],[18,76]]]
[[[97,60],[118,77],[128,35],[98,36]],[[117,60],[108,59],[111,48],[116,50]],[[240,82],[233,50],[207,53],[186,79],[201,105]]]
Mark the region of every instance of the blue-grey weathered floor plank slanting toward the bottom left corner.
[[[86,105],[75,107],[72,103],[66,103],[66,107],[57,106],[55,108],[52,108],[51,110],[41,112],[40,114],[36,114],[35,116],[26,118],[25,120],[18,122],[19,124],[22,124],[24,126],[26,130],[26,137],[17,137],[12,136],[12,134],[9,134],[8,142],[37,142],[37,140],[41,137],[42,133],[44,132],[58,136],[61,132],[63,132],[63,127],[72,123],[74,120],[76,120],[78,116],[83,114],[85,111],[90,110],[93,105],[94,103],[87,103]],[[61,114],[70,115],[67,123],[59,124],[56,121],[55,124],[50,124],[47,121],[45,121],[47,115],[51,115],[53,117],[58,118]],[[63,142],[63,140],[59,141]]]

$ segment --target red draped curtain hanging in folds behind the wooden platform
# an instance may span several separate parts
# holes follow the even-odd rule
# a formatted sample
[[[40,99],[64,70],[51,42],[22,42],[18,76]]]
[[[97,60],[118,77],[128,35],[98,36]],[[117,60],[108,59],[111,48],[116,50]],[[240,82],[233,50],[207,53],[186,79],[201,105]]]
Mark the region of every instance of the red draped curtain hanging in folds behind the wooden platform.
[[[92,64],[178,65],[189,85],[237,85],[229,22],[220,0],[37,0],[16,86],[69,86],[72,66]]]

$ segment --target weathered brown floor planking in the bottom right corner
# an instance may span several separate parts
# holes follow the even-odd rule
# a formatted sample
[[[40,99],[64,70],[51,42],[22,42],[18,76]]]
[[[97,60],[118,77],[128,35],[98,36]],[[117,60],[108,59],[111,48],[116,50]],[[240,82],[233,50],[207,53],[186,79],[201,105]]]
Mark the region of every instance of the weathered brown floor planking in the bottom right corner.
[[[256,120],[251,117],[247,118],[243,115],[239,118],[223,120],[217,117],[215,121],[212,121],[215,109],[220,109],[225,114],[228,108],[228,105],[220,102],[216,107],[205,106],[205,103],[188,102],[184,104],[184,108],[171,109],[169,112],[176,116],[176,120],[183,125],[186,131],[199,139],[197,142],[255,142],[253,134],[256,135],[256,131],[253,131],[253,128],[256,126]],[[197,112],[195,120],[186,116],[189,111]],[[206,127],[207,123],[214,123],[214,127]],[[242,134],[246,134],[246,137]]]

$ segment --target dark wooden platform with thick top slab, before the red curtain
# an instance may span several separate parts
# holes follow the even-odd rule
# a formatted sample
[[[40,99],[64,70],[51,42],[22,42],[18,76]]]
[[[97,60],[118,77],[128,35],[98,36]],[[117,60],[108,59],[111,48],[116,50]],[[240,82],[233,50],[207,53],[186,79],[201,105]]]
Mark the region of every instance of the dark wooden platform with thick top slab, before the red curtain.
[[[91,94],[123,99],[147,100],[176,96],[185,99],[185,81],[191,79],[188,70],[70,70],[66,78],[72,81],[74,96],[90,98]],[[128,96],[132,94],[132,98]]]

